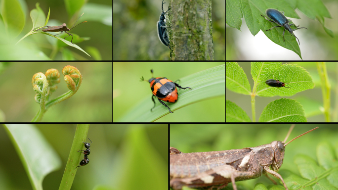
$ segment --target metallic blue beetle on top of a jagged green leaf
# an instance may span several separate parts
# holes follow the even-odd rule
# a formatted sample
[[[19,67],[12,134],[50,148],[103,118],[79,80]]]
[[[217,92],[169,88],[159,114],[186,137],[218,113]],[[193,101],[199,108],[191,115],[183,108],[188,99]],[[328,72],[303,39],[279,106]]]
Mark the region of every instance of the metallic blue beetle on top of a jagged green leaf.
[[[267,19],[265,16],[263,15],[260,15],[262,17],[264,17],[266,20],[270,21],[270,22],[273,22],[273,23],[276,23],[278,24],[279,26],[274,26],[272,28],[270,28],[269,30],[273,29],[273,28],[277,28],[277,27],[284,27],[284,31],[283,31],[283,41],[285,42],[284,40],[284,32],[285,32],[285,29],[288,30],[290,32],[291,35],[295,36],[294,34],[294,31],[295,30],[298,30],[300,28],[297,28],[298,26],[296,26],[294,23],[293,24],[290,24],[289,23],[291,22],[291,20],[289,21],[285,16],[284,16],[284,12],[282,14],[282,12],[280,12],[279,10],[277,9],[273,9],[273,8],[268,8],[266,9],[265,11],[266,15],[271,19]],[[290,26],[291,25],[295,25],[296,29],[292,29]],[[302,27],[302,28],[305,28],[305,27]],[[307,28],[306,28],[307,29]],[[265,31],[268,31],[268,30],[265,30]],[[296,36],[295,36],[296,37]],[[298,40],[298,38],[296,37],[296,39]],[[298,40],[298,43],[299,43],[299,40]],[[299,43],[300,45],[300,43]]]

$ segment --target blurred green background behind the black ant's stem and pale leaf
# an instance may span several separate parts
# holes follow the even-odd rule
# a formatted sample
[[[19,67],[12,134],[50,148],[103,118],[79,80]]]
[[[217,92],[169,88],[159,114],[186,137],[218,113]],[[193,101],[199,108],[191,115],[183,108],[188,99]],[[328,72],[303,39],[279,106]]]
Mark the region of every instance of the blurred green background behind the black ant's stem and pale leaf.
[[[44,190],[58,190],[77,126],[34,126],[61,159],[61,168],[43,180]],[[77,168],[72,190],[168,188],[168,125],[90,125],[87,138],[92,141],[90,162]],[[27,143],[34,141],[29,134],[25,139]],[[3,126],[0,126],[0,140],[0,152],[5,152],[0,156],[1,189],[32,190]]]

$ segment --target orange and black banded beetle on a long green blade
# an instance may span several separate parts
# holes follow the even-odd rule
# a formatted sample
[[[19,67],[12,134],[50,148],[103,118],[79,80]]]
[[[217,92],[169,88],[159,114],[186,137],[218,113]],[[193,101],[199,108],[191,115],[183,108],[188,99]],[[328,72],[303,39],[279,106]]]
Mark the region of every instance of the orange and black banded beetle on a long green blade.
[[[177,94],[176,87],[178,87],[179,89],[190,89],[190,90],[192,90],[192,89],[190,87],[183,88],[183,87],[179,86],[177,83],[170,81],[166,77],[164,77],[164,78],[161,78],[161,77],[154,78],[153,70],[150,70],[150,71],[151,71],[151,74],[152,74],[152,78],[149,79],[148,82],[150,83],[150,88],[151,88],[151,91],[153,93],[153,96],[151,96],[151,99],[154,102],[154,107],[155,107],[155,100],[154,100],[153,97],[156,96],[157,99],[164,106],[166,106],[169,109],[169,112],[173,113],[173,112],[171,112],[168,105],[166,105],[163,101],[172,102],[172,103],[177,101],[178,94]],[[147,80],[144,80],[143,77],[142,77],[141,81],[147,81]],[[163,101],[161,101],[161,100],[163,100]],[[150,110],[152,111],[153,108],[151,108]]]

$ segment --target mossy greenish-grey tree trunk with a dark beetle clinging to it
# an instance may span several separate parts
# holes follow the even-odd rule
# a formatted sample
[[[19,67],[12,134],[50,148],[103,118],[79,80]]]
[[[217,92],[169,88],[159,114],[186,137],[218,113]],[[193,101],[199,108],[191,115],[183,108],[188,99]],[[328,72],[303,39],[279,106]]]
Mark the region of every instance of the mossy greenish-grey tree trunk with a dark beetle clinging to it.
[[[211,0],[171,0],[170,9],[171,60],[213,60]]]

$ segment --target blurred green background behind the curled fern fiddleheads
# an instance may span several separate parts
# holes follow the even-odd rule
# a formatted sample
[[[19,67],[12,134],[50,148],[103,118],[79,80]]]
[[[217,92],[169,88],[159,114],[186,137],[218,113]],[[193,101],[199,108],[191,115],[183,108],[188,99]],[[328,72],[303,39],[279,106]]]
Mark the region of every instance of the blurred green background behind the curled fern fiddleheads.
[[[66,65],[80,70],[82,84],[75,95],[50,107],[41,122],[112,122],[111,62],[11,62],[0,65],[6,65],[0,71],[0,110],[5,122],[29,122],[39,111],[32,86],[35,73],[57,69],[61,82],[51,98],[68,92],[62,74]]]

